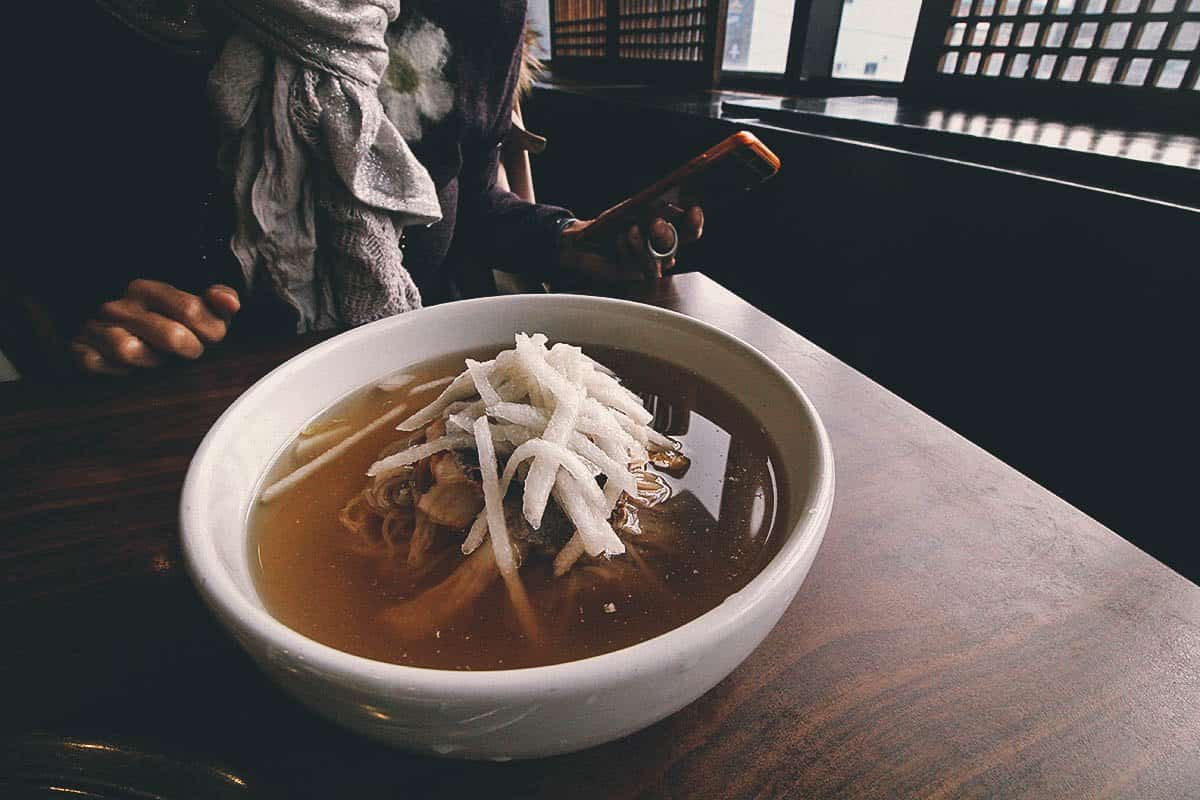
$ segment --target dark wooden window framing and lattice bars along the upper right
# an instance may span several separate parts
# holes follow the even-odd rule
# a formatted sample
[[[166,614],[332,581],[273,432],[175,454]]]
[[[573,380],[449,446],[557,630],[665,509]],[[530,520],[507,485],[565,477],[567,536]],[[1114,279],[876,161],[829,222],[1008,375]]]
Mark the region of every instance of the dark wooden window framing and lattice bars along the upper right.
[[[966,0],[968,2],[967,13],[964,19],[982,17],[976,13],[980,0]],[[992,7],[995,12],[989,16],[991,20],[1002,20],[1012,17],[1014,25],[1031,16],[1028,6],[1032,2],[1044,2],[1048,7],[1057,8],[1060,0],[1018,0],[1018,11],[1001,11],[1001,4],[1006,0],[996,0]],[[1072,10],[1057,12],[1037,12],[1036,16],[1043,22],[1062,16],[1063,20],[1072,22],[1067,29],[1068,36],[1074,36],[1080,29],[1081,11],[1084,4],[1094,0],[1074,0]],[[1198,20],[1196,11],[1192,10],[1192,4],[1196,0],[1177,0],[1172,11],[1154,11],[1156,0],[1136,0],[1138,7],[1133,11],[1116,11],[1117,0],[1104,0],[1104,7],[1096,14],[1097,22],[1100,17],[1120,16],[1121,20],[1130,20],[1134,28],[1130,35],[1136,36],[1148,22],[1159,18],[1172,18],[1174,22]],[[1098,84],[1091,80],[1069,79],[1069,83],[1060,80],[1060,72],[1067,65],[1063,59],[1061,66],[1054,67],[1052,79],[1028,80],[1022,77],[1010,77],[1012,73],[997,74],[980,71],[980,74],[942,74],[938,71],[938,61],[947,48],[952,47],[947,42],[947,26],[953,24],[962,14],[954,13],[954,8],[960,0],[923,0],[917,16],[917,25],[913,32],[912,47],[908,52],[908,60],[905,65],[905,77],[900,82],[877,80],[869,78],[835,78],[833,77],[834,55],[836,53],[838,36],[841,30],[842,10],[845,0],[793,0],[792,26],[787,46],[787,58],[782,73],[752,72],[739,70],[725,70],[725,25],[727,20],[727,0],[706,0],[708,7],[715,13],[708,14],[708,40],[713,47],[706,50],[702,61],[694,62],[646,62],[636,59],[622,61],[614,55],[618,40],[617,0],[605,0],[608,8],[607,19],[607,52],[604,58],[583,59],[572,58],[571,71],[584,82],[601,78],[604,80],[648,80],[653,76],[654,80],[664,84],[678,83],[703,84],[704,89],[721,89],[732,91],[760,92],[774,96],[791,97],[841,97],[854,95],[877,95],[883,97],[896,97],[924,106],[956,107],[988,113],[1032,115],[1037,118],[1057,119],[1063,121],[1086,122],[1093,125],[1112,125],[1127,127],[1132,120],[1138,126],[1150,126],[1158,130],[1172,130],[1183,133],[1194,131],[1195,119],[1200,119],[1200,50],[1184,54],[1181,59],[1189,60],[1190,66],[1186,67],[1180,88],[1166,88],[1152,85],[1157,80],[1154,77],[1144,85],[1120,85],[1118,82]],[[553,65],[553,54],[559,43],[553,35],[556,24],[554,0],[551,0],[551,50],[550,64]],[[1187,11],[1184,11],[1187,8]],[[978,20],[976,20],[978,22]],[[1111,23],[1111,20],[1110,20]],[[970,29],[968,29],[970,30]],[[1014,32],[1020,30],[1014,28]],[[1098,28],[1098,36],[1103,28]],[[1170,29],[1169,29],[1170,30]],[[1004,65],[1018,58],[1020,52],[1036,52],[1038,49],[1052,48],[1058,54],[1067,56],[1078,55],[1074,53],[1082,46],[1076,46],[1074,40],[1052,46],[1044,42],[1021,43],[1014,41],[1015,36],[1009,36],[1003,43],[995,41],[976,47],[980,55],[995,54],[1004,50],[1000,64]],[[959,52],[968,48],[959,47]],[[1085,65],[1097,68],[1100,49],[1094,44],[1084,47],[1091,50],[1092,55]],[[1134,42],[1122,43],[1122,52],[1128,53],[1140,49]],[[1148,52],[1148,50],[1147,50]],[[1153,61],[1156,70],[1162,70],[1165,61],[1160,58]],[[1093,58],[1094,56],[1094,58]],[[1162,61],[1162,64],[1159,64]],[[1128,67],[1127,61],[1118,62]],[[564,66],[566,66],[564,64]],[[964,71],[960,71],[964,72]],[[564,71],[564,74],[569,74]]]

